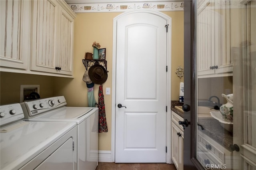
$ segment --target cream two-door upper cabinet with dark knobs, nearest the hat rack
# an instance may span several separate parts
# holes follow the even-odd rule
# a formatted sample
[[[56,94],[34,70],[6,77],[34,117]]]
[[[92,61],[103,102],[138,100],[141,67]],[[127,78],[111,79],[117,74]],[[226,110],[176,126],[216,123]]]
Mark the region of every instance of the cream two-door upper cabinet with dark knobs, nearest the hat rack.
[[[74,12],[64,1],[32,3],[30,70],[72,75]]]

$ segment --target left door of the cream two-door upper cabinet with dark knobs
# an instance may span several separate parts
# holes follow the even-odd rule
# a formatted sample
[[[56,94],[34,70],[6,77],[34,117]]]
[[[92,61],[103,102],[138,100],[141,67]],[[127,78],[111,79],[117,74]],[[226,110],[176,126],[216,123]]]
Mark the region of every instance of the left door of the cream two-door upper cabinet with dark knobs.
[[[31,70],[55,73],[58,2],[33,1]]]

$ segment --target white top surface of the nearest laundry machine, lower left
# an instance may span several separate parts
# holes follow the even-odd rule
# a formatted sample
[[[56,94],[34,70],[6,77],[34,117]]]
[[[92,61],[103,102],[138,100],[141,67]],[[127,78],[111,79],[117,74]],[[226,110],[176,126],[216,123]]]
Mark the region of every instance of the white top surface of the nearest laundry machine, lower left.
[[[2,128],[0,169],[19,169],[76,126],[69,122],[25,122]]]

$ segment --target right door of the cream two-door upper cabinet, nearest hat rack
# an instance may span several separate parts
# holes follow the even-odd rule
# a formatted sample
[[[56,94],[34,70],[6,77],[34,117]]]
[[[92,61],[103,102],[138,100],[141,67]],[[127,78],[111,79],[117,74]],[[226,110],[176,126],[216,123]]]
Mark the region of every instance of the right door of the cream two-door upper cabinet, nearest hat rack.
[[[73,63],[73,32],[74,32],[74,18],[68,12],[60,10],[60,38],[58,55],[56,61],[57,67],[60,67],[60,73],[72,75]]]

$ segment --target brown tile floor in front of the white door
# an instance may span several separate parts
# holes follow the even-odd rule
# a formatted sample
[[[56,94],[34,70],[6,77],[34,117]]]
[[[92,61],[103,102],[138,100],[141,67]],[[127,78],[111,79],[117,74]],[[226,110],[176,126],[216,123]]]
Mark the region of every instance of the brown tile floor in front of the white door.
[[[99,162],[96,170],[176,170],[174,164]]]

